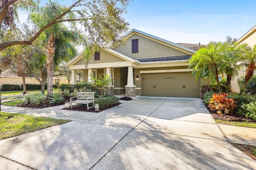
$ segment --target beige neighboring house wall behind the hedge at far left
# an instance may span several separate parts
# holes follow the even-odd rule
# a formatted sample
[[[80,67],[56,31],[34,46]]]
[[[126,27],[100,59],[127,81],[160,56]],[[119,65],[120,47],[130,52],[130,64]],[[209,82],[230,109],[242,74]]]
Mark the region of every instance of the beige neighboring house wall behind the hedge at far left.
[[[53,80],[53,84],[55,84],[56,78]],[[68,80],[58,79],[59,84],[67,84]],[[25,78],[26,84],[40,84],[36,78]],[[0,77],[0,87],[2,87],[3,84],[19,84],[20,86],[23,84],[22,77]]]

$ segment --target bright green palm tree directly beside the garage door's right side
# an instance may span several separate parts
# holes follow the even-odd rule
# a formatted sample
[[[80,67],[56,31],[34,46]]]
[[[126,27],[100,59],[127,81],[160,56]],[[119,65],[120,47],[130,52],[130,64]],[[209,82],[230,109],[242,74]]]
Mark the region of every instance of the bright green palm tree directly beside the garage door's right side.
[[[195,78],[215,79],[220,92],[222,92],[218,78],[219,68],[224,55],[224,45],[221,42],[210,42],[206,47],[200,48],[189,60],[189,68]]]

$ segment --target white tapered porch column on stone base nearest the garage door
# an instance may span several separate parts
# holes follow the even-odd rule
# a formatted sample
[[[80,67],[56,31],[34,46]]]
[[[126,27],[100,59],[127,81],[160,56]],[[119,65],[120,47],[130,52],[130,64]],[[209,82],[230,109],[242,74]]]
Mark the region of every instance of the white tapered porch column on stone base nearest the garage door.
[[[125,86],[125,96],[132,98],[136,96],[134,86],[134,77],[133,77],[133,68],[132,66],[128,66],[128,77],[127,77],[127,85]]]

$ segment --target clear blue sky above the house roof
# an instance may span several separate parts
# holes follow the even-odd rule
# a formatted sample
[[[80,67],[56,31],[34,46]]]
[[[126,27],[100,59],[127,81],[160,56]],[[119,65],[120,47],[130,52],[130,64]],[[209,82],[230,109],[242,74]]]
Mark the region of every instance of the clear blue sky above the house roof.
[[[123,17],[131,29],[174,43],[207,44],[244,35],[256,25],[255,7],[256,0],[133,0]]]

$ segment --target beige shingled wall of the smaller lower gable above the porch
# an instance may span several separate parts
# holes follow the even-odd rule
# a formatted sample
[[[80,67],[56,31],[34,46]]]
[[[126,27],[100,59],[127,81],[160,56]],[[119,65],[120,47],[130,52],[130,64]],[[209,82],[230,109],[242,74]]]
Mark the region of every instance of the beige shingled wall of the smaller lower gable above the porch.
[[[102,51],[100,51],[100,60],[94,60],[94,53],[93,53],[90,57],[88,64],[116,63],[116,62],[123,62],[123,61],[125,61],[125,60],[102,50]],[[84,59],[80,59],[74,65],[83,65],[83,64],[85,64]]]

